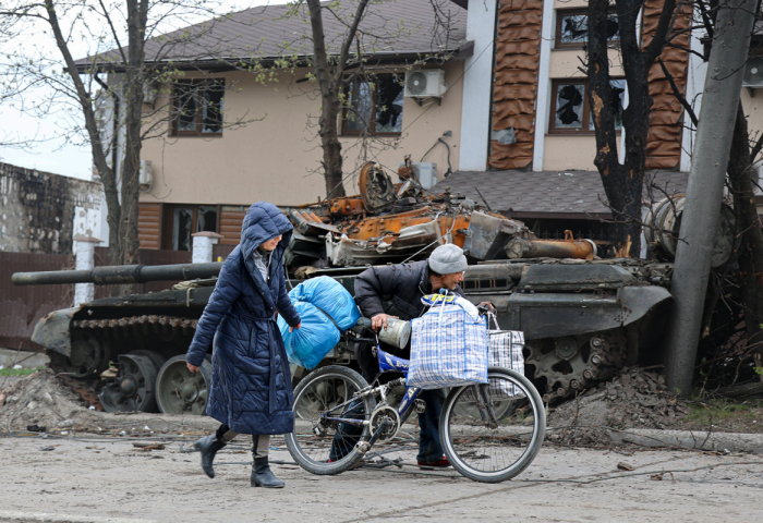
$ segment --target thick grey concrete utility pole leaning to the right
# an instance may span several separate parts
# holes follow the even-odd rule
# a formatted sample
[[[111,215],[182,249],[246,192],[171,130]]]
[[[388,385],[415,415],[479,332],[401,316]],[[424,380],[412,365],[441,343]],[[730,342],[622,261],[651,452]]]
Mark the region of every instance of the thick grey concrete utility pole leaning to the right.
[[[715,23],[670,285],[676,304],[668,329],[666,378],[668,389],[681,396],[691,389],[713,239],[756,9],[758,0],[722,0]]]

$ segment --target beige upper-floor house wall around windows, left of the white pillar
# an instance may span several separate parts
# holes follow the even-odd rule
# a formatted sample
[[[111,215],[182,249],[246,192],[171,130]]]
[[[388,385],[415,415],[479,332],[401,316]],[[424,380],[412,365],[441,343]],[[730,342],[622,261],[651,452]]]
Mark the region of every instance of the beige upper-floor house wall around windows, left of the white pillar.
[[[356,172],[366,160],[378,161],[395,172],[404,155],[422,161],[435,146],[423,161],[436,162],[441,179],[448,162],[446,147],[437,142],[438,137],[450,144],[450,162],[453,169],[458,167],[463,62],[439,68],[446,71],[449,86],[441,106],[425,100],[419,107],[405,98],[403,132],[397,139],[384,138],[362,147],[358,137],[341,137],[344,172]],[[320,101],[314,83],[296,83],[304,74],[305,71],[293,76],[282,74],[278,82],[268,85],[246,72],[211,75],[226,78],[226,85],[233,86],[226,93],[226,123],[240,119],[262,121],[226,129],[219,137],[174,137],[165,132],[144,142],[142,158],[153,162],[154,183],[149,192],[141,195],[141,202],[250,205],[268,200],[289,206],[324,198],[325,182],[315,172],[322,158],[317,136]],[[162,125],[169,129],[169,123]],[[447,131],[451,135],[444,137]],[[397,177],[392,178],[397,182]],[[346,182],[346,190],[356,194],[352,180]]]

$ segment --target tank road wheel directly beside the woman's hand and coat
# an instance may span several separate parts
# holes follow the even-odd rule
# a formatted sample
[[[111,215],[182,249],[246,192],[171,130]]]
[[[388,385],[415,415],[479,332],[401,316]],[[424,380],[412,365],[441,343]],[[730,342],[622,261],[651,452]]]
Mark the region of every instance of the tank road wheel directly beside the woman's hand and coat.
[[[185,354],[167,360],[156,378],[156,401],[165,414],[195,414],[206,412],[211,385],[211,364],[204,360],[198,372],[185,366]]]

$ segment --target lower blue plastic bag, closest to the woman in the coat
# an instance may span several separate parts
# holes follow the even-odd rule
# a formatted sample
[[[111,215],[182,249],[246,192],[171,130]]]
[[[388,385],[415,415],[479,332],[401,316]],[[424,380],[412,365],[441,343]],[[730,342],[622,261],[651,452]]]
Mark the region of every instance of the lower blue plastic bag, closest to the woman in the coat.
[[[302,327],[289,332],[289,324],[278,316],[278,330],[281,331],[289,363],[301,365],[307,370],[315,368],[328,351],[339,343],[341,333],[334,323],[315,305],[307,302],[294,302],[302,318]]]

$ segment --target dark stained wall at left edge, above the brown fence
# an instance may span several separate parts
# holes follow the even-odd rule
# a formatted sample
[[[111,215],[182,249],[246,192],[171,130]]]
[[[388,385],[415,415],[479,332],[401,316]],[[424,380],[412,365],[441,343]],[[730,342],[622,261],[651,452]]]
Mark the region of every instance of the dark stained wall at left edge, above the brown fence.
[[[98,236],[100,212],[98,183],[0,163],[0,251],[70,254],[75,234]]]

